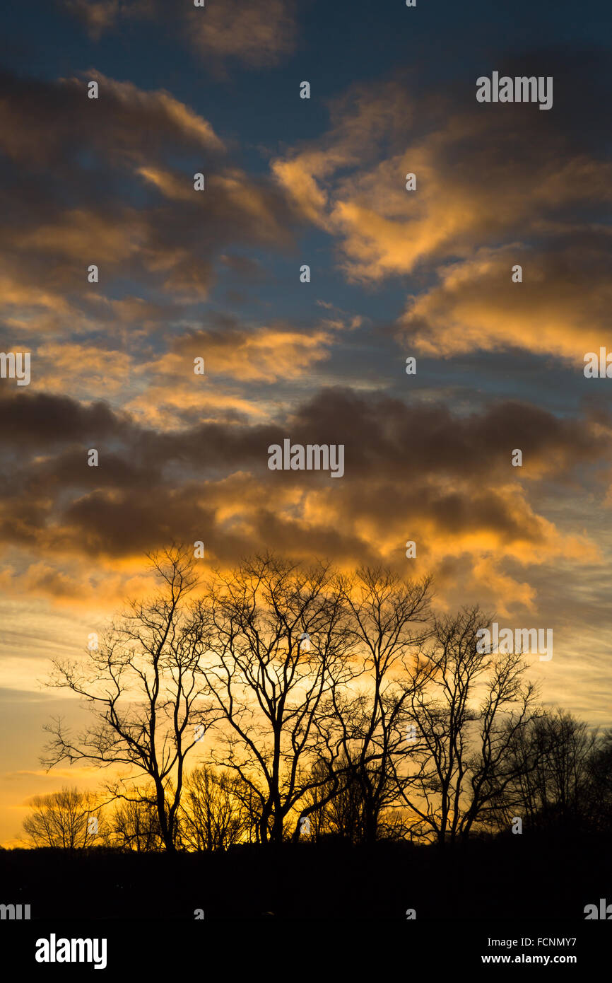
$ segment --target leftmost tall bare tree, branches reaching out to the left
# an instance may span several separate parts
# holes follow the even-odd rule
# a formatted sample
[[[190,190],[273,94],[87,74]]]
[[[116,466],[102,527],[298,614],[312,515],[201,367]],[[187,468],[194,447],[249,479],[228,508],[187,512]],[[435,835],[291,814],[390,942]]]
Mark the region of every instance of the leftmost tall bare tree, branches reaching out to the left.
[[[131,789],[142,776],[150,779],[162,841],[174,850],[185,760],[209,725],[210,710],[198,672],[200,623],[187,603],[197,582],[193,554],[172,547],[149,559],[161,582],[158,593],[132,602],[84,664],[54,662],[50,685],[82,696],[94,723],[75,738],[61,720],[48,724],[53,736],[43,763],[127,766],[127,778],[107,786],[127,800],[138,801]]]

